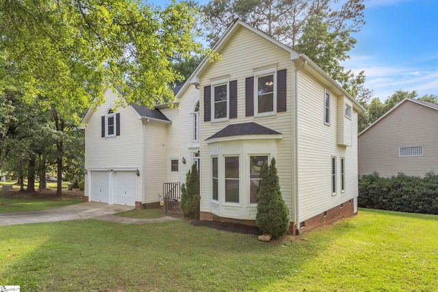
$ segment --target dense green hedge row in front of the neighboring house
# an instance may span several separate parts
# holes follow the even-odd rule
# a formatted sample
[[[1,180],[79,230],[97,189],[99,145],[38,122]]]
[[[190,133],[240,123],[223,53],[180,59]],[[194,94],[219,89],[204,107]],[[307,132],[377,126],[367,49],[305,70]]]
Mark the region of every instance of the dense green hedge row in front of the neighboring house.
[[[359,207],[409,213],[438,214],[438,175],[399,174],[382,178],[377,173],[359,178]]]

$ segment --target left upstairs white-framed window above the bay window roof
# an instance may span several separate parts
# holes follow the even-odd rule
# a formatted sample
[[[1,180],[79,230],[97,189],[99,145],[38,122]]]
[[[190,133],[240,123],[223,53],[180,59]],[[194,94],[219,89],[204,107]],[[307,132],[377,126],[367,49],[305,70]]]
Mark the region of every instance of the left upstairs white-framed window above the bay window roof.
[[[229,119],[229,80],[221,79],[211,84],[211,116],[213,121]]]

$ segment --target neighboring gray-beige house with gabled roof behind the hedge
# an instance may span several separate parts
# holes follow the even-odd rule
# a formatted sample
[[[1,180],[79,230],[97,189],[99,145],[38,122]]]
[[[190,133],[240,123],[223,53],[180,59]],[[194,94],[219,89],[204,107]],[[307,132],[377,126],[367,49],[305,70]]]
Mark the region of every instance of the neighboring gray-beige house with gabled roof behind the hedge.
[[[359,133],[359,176],[438,173],[438,105],[406,98]]]

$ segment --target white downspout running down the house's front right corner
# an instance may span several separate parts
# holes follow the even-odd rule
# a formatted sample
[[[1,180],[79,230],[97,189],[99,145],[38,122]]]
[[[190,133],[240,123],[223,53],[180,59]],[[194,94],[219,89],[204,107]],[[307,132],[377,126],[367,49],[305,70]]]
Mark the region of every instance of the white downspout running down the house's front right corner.
[[[307,65],[307,60],[295,69],[295,224],[296,235],[300,234],[300,208],[298,204],[298,71]]]

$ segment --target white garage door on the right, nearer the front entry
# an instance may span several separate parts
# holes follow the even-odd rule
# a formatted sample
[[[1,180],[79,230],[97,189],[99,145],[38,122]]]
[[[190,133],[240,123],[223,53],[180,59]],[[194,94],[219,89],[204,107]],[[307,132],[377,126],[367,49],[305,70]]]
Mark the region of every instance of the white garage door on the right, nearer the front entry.
[[[114,172],[114,204],[136,206],[136,172]]]

